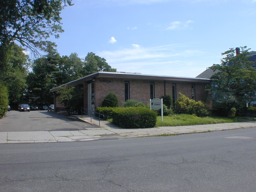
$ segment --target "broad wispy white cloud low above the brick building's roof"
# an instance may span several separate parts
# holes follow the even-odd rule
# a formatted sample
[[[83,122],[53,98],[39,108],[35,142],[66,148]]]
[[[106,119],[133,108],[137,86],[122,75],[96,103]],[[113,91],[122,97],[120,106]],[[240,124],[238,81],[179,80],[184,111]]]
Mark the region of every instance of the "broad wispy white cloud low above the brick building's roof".
[[[185,49],[186,44],[170,44],[147,48],[138,44],[132,44],[132,46],[132,48],[115,51],[102,51],[97,55],[104,57],[108,64],[118,71],[190,77],[199,74],[199,72],[191,73],[196,64],[190,66],[190,59],[194,56],[201,57],[204,53],[198,50]]]

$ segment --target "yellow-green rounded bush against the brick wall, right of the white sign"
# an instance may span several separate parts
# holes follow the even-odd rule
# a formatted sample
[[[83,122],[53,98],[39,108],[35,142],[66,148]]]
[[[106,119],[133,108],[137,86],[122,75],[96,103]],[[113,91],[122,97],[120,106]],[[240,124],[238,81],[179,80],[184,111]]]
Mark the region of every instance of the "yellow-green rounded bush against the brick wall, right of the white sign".
[[[179,93],[179,98],[175,102],[174,111],[175,113],[195,114],[198,117],[210,115],[208,108],[202,101],[196,102],[181,93]]]

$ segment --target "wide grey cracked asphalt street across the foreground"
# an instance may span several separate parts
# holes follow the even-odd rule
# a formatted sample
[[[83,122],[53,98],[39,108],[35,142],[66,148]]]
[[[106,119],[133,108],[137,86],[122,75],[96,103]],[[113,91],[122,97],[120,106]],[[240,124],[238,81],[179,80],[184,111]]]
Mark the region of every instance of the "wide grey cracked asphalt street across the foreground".
[[[0,144],[0,191],[256,191],[256,129]]]

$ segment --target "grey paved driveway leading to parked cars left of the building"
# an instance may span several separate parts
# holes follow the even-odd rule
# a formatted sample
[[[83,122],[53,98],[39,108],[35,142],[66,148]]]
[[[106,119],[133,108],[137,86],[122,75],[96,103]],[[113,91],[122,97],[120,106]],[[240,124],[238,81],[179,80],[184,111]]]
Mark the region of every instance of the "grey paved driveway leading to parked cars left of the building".
[[[74,121],[66,115],[53,111],[8,111],[7,117],[0,119],[0,132],[16,131],[76,131],[92,128],[88,123]]]

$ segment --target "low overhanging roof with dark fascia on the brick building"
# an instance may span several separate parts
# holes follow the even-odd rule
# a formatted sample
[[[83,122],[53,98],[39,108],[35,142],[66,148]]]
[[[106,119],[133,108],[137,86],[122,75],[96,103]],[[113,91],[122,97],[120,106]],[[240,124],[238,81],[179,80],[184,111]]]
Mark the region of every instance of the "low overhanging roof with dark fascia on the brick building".
[[[90,81],[96,77],[106,77],[106,78],[122,78],[122,79],[145,79],[145,80],[163,80],[163,81],[173,81],[173,82],[194,82],[194,83],[210,83],[211,79],[208,78],[193,78],[193,77],[176,77],[176,76],[162,76],[162,75],[148,75],[141,73],[132,72],[96,72],[85,77],[76,79],[64,85],[56,88],[50,89],[51,92],[57,91],[58,88],[63,86],[76,86],[83,84],[84,81]]]

